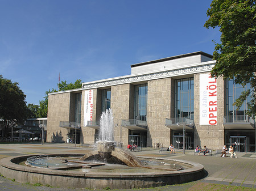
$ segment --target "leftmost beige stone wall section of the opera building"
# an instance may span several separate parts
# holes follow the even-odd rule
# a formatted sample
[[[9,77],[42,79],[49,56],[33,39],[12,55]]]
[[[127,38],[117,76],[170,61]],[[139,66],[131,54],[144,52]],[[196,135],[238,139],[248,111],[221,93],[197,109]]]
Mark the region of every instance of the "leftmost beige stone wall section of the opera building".
[[[53,94],[48,98],[47,142],[65,142],[68,130],[60,128],[60,121],[69,121],[71,93]]]

